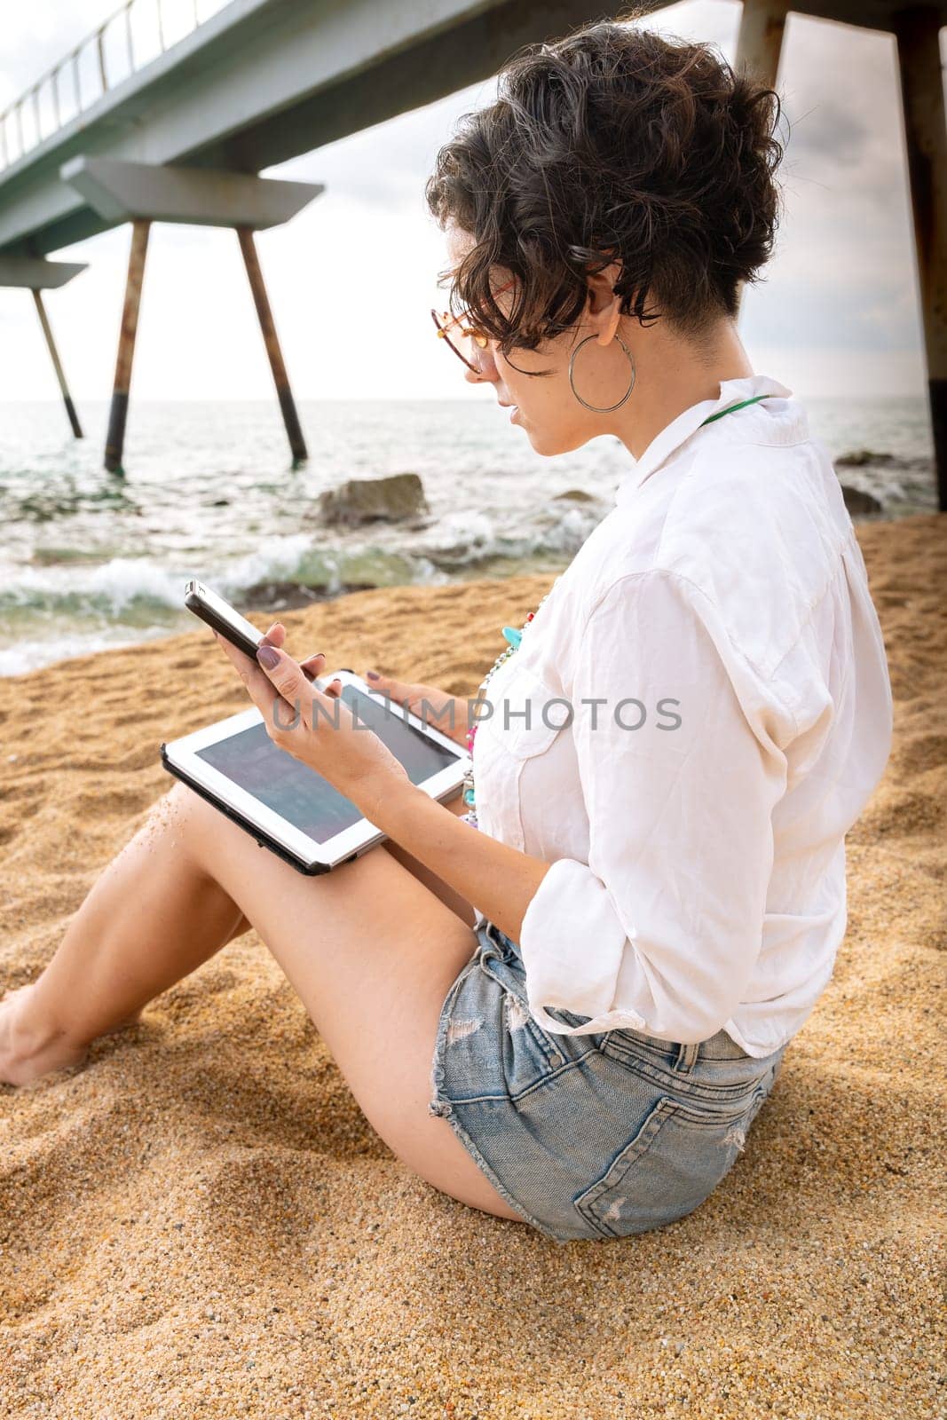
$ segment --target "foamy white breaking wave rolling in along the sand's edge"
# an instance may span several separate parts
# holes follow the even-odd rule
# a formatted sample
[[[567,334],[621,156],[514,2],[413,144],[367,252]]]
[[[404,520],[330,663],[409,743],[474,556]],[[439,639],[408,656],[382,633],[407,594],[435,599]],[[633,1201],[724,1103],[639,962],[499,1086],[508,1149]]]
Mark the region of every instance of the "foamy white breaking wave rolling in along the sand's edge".
[[[0,676],[190,629],[183,591],[192,577],[241,611],[266,612],[363,588],[561,567],[606,508],[576,493],[522,513],[449,513],[422,530],[327,532],[331,545],[312,530],[270,535],[260,548],[207,552],[190,565],[180,552],[95,562],[82,550],[38,548],[31,562],[0,565]]]

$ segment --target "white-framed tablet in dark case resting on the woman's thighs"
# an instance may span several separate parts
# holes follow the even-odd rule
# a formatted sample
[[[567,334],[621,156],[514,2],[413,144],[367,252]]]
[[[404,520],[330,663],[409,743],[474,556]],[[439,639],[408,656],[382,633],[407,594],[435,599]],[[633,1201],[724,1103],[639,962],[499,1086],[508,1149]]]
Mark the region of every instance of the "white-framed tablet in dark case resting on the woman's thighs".
[[[385,741],[412,784],[434,799],[456,797],[470,765],[460,744],[351,670],[314,684],[324,690],[335,679],[339,699]],[[386,838],[328,780],[274,744],[256,707],[162,743],[160,757],[170,774],[301,873],[328,872]]]

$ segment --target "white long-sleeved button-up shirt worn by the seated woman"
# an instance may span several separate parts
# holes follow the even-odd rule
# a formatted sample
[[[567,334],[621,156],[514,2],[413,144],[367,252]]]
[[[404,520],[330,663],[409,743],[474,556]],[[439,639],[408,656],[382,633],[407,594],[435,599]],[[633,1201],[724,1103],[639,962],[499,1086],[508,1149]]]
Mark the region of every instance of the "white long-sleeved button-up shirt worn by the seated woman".
[[[761,393],[779,398],[700,427]],[[549,1032],[723,1028],[764,1056],[832,976],[892,690],[838,477],[791,395],[727,379],[672,420],[484,692],[480,831],[552,865],[518,943]]]

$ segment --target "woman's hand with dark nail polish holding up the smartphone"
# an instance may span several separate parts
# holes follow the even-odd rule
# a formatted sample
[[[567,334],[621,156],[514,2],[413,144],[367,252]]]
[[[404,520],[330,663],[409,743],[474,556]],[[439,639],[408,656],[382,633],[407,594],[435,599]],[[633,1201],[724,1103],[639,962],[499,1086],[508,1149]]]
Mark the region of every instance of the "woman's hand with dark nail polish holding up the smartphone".
[[[283,650],[281,622],[263,638],[257,655],[263,652],[264,663],[244,656],[217,632],[214,636],[237,667],[273,743],[328,780],[366,818],[372,819],[373,805],[388,792],[409,782],[402,763],[339,699],[341,682],[334,680],[329,693],[308,679],[325,663],[321,652],[301,663],[292,660]]]

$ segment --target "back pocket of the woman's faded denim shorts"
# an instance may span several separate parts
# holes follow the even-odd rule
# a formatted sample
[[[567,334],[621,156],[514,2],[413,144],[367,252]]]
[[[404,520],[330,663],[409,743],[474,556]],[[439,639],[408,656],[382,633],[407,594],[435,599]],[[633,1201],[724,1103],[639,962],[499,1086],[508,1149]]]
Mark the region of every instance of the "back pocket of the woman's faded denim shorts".
[[[758,1085],[738,1106],[717,1109],[662,1095],[574,1198],[576,1211],[603,1238],[647,1233],[693,1213],[735,1163],[767,1093]]]

